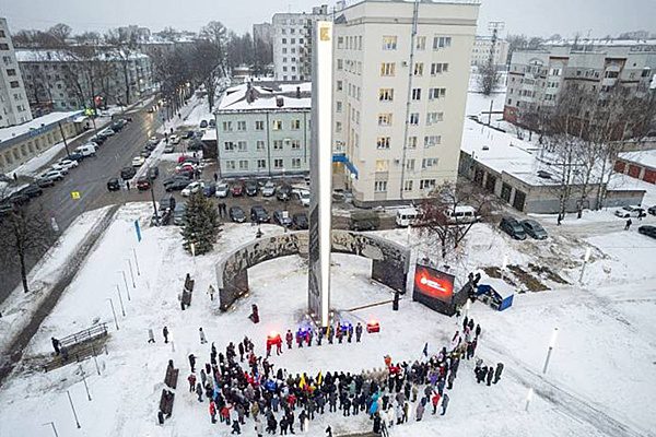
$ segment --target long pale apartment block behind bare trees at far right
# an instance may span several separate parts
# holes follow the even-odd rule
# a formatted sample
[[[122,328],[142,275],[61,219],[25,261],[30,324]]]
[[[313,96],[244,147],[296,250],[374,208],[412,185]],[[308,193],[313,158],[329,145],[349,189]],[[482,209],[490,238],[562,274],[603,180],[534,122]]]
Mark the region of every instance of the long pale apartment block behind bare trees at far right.
[[[549,109],[570,84],[593,92],[621,85],[646,95],[656,73],[656,42],[547,45],[515,51],[511,60],[504,118],[522,123],[522,113]]]

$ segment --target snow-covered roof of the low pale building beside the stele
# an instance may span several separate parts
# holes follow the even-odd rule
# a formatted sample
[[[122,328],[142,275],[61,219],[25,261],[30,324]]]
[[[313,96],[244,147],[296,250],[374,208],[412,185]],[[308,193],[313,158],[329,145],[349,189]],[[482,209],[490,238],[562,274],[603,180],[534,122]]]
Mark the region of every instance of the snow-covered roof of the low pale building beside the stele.
[[[296,90],[300,91],[300,97]],[[232,86],[223,93],[216,113],[290,110],[312,107],[312,83],[253,82]],[[248,97],[248,98],[247,98]],[[278,99],[282,98],[282,106]]]

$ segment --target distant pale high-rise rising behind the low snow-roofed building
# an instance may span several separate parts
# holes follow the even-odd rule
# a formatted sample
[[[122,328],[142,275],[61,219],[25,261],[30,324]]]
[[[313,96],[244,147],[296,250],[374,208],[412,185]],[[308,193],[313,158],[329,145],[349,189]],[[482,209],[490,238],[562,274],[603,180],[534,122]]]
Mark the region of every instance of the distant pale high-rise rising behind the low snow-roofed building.
[[[311,13],[277,13],[271,20],[273,75],[277,81],[307,81],[312,76],[312,28],[328,19],[328,5]]]

